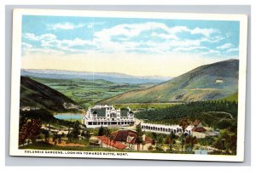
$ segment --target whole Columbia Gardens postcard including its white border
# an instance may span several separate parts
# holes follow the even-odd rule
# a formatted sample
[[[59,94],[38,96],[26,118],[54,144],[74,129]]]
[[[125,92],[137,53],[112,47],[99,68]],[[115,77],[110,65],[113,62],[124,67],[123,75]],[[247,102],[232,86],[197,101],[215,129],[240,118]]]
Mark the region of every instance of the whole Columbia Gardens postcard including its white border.
[[[247,15],[15,9],[11,156],[244,160]]]

